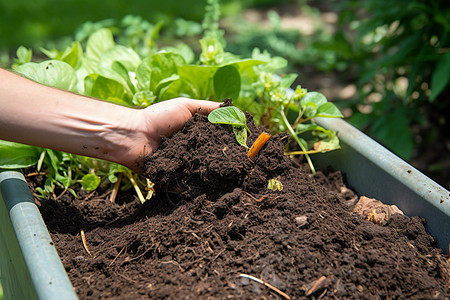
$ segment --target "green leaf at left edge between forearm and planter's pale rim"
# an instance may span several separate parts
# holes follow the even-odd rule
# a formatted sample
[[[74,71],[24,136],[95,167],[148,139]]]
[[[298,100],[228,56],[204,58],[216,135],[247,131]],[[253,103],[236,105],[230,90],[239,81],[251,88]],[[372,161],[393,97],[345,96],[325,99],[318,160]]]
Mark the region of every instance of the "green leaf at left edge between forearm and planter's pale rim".
[[[0,140],[0,168],[19,169],[37,164],[41,149]]]

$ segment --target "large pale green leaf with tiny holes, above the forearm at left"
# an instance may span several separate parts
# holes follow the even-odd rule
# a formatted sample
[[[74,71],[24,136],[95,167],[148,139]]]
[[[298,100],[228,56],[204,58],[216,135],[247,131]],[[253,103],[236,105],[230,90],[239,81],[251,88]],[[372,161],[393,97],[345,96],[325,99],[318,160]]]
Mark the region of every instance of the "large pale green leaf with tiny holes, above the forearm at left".
[[[26,63],[15,70],[31,80],[63,90],[74,90],[77,83],[75,70],[59,60]]]

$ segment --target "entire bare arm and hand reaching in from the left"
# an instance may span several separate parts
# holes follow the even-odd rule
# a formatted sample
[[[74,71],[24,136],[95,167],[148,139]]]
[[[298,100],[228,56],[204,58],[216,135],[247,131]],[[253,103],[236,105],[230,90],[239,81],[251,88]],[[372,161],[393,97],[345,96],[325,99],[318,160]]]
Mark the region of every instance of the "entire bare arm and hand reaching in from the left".
[[[44,86],[0,69],[0,139],[100,158],[142,173],[161,136],[220,103],[176,98],[135,109]]]

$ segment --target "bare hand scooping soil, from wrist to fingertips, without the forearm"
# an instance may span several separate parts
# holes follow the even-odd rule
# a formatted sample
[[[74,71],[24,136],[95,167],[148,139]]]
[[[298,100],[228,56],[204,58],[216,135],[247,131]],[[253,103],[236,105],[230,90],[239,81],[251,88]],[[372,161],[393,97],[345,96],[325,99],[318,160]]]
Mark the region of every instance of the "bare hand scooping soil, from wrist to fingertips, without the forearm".
[[[142,173],[144,157],[158,148],[161,136],[172,136],[195,113],[208,115],[219,105],[218,102],[206,100],[175,98],[137,111],[139,114],[133,117],[135,132],[131,140],[127,141],[127,150],[117,160],[133,171]]]

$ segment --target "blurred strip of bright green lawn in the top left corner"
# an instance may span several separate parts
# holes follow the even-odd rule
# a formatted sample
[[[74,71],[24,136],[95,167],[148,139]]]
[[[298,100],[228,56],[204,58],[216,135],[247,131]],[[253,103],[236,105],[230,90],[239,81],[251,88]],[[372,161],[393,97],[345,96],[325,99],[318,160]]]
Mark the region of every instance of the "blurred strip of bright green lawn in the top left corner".
[[[72,35],[81,24],[139,15],[151,20],[174,17],[200,21],[205,0],[0,0],[0,49],[43,46]]]

